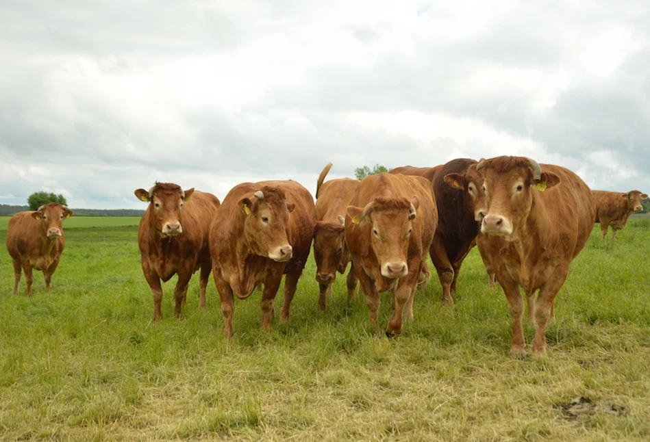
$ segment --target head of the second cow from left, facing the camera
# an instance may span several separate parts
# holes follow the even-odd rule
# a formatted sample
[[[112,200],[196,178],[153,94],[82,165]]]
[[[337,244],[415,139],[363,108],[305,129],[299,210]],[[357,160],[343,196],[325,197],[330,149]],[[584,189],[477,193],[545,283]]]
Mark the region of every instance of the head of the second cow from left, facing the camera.
[[[161,237],[173,237],[183,233],[181,209],[183,203],[190,199],[194,187],[188,190],[174,183],[155,183],[149,191],[138,189],[136,197],[149,202],[150,225]]]

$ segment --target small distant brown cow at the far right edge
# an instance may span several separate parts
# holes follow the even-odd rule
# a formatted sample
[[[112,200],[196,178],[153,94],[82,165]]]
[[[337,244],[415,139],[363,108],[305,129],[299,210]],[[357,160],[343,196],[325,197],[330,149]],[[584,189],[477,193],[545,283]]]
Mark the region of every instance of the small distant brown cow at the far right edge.
[[[627,194],[607,190],[592,190],[591,193],[596,200],[596,222],[601,225],[602,239],[607,235],[608,226],[612,226],[612,239],[615,239],[616,233],[627,224],[627,218],[643,210],[641,200],[648,197],[638,190],[630,190]]]

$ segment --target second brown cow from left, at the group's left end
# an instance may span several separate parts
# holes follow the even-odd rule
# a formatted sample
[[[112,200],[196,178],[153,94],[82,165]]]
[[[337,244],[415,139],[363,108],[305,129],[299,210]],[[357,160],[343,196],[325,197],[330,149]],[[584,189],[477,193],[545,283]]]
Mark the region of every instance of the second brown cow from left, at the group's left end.
[[[194,187],[182,190],[174,183],[155,183],[149,191],[138,189],[135,194],[149,202],[140,219],[138,246],[142,272],[153,296],[153,320],[162,319],[160,280],[167,282],[174,274],[178,274],[174,315],[181,314],[188,283],[199,268],[199,307],[205,307],[205,287],[212,270],[208,232],[210,220],[219,207],[218,198]]]

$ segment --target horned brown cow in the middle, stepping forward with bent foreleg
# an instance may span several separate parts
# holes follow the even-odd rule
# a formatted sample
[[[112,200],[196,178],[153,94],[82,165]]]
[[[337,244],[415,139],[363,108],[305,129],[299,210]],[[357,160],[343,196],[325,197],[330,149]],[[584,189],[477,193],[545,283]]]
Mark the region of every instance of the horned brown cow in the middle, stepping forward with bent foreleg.
[[[365,177],[345,216],[345,240],[377,335],[379,293],[392,291],[386,336],[413,317],[413,297],[438,224],[431,181],[387,172]]]

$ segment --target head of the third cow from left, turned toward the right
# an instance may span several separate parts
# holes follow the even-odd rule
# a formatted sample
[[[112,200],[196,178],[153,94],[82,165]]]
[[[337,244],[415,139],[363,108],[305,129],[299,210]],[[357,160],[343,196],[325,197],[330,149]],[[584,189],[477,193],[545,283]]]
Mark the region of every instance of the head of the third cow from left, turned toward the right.
[[[244,239],[255,255],[277,262],[289,261],[293,248],[286,234],[289,214],[295,205],[286,202],[284,190],[264,186],[251,198],[239,200],[239,208],[245,214]]]

